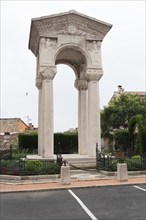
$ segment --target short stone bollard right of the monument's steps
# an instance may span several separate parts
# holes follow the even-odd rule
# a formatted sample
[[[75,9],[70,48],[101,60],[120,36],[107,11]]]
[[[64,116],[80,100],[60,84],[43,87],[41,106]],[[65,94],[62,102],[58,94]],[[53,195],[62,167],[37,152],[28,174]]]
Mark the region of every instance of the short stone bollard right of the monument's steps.
[[[117,164],[117,180],[119,180],[119,181],[128,180],[127,164],[126,163],[118,163]]]

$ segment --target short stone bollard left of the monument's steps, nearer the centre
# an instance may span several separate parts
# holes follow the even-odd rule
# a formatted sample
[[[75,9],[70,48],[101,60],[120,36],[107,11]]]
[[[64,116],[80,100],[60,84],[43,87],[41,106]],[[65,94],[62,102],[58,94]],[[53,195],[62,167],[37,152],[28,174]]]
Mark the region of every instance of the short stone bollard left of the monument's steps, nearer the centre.
[[[61,167],[61,184],[62,185],[70,184],[70,167],[69,166]]]

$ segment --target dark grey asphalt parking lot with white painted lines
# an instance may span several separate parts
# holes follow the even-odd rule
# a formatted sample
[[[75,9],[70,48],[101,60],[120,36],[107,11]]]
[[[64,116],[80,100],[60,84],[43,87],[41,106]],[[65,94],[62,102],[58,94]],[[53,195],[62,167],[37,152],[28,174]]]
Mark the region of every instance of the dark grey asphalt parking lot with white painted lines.
[[[146,185],[1,194],[1,220],[145,220]]]

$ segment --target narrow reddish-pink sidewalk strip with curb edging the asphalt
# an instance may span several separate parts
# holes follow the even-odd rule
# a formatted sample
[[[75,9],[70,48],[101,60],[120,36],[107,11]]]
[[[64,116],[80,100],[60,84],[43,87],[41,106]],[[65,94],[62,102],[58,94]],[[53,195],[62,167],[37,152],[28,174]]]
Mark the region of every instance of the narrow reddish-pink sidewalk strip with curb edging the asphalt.
[[[27,184],[2,184],[0,193],[13,193],[13,192],[39,192],[49,190],[63,190],[63,189],[77,189],[77,188],[93,188],[93,187],[108,187],[108,186],[124,186],[145,184],[146,176],[129,178],[128,180],[119,181],[114,179],[92,179],[92,180],[76,180],[71,184],[61,184],[61,182],[49,182],[49,183],[27,183]]]

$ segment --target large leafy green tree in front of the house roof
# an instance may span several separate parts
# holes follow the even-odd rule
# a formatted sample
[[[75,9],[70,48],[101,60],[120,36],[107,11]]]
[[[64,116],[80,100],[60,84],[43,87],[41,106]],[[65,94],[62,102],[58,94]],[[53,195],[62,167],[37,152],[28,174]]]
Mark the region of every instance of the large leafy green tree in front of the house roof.
[[[110,101],[101,111],[102,137],[109,138],[112,142],[115,131],[127,130],[131,117],[141,114],[146,115],[146,100],[139,95],[120,94]]]

